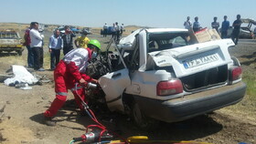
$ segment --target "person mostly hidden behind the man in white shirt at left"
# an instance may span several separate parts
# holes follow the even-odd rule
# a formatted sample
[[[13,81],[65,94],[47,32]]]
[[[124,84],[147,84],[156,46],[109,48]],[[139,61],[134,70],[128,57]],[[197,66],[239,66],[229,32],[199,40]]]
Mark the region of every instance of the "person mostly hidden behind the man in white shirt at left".
[[[33,54],[32,49],[30,47],[31,39],[30,39],[30,36],[29,36],[29,31],[31,30],[31,28],[32,28],[32,23],[30,23],[30,26],[25,31],[24,46],[27,47],[27,67],[33,68],[34,67],[34,54]]]

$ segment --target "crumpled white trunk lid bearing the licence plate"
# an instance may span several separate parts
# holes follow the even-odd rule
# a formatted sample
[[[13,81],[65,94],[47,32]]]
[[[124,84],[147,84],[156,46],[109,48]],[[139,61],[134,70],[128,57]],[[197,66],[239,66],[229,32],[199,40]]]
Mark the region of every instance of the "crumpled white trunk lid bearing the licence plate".
[[[233,43],[230,40],[218,41],[149,53],[148,59],[153,59],[156,67],[172,67],[176,77],[186,77],[232,62],[228,47]]]

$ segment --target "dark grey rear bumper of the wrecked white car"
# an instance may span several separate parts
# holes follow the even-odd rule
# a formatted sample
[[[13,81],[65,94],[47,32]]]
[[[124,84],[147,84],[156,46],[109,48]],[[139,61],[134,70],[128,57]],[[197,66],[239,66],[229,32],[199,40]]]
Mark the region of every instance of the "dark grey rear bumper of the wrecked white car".
[[[246,85],[218,87],[187,95],[184,98],[156,100],[135,96],[141,110],[150,118],[165,122],[180,121],[238,103],[245,95]]]

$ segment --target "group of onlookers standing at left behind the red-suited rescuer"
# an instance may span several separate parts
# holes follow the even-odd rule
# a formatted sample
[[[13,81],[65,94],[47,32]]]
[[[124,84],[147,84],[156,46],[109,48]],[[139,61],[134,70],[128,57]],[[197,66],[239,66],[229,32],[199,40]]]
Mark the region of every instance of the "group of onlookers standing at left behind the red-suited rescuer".
[[[74,44],[76,47],[87,48],[90,39],[87,37],[89,32],[83,30],[81,36],[78,36]],[[69,53],[73,46],[73,38],[76,35],[70,30],[69,26],[65,26],[65,33],[60,35],[59,29],[54,31],[54,34],[48,40],[48,52],[50,53],[50,69],[54,70],[59,63],[60,50],[63,49],[64,56]],[[34,68],[37,71],[44,71],[44,35],[38,31],[38,23],[31,22],[30,26],[25,31],[25,43],[27,46],[27,67]]]

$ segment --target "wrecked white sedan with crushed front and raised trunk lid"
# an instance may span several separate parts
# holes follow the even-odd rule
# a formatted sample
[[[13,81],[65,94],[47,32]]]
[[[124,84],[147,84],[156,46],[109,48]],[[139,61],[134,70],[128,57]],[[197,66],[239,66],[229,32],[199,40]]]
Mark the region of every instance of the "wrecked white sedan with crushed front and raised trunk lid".
[[[118,45],[112,39],[87,68],[101,86],[100,92],[88,93],[89,101],[130,115],[142,129],[238,103],[246,85],[238,58],[229,55],[235,45],[209,32],[196,36],[187,29],[145,28]]]

